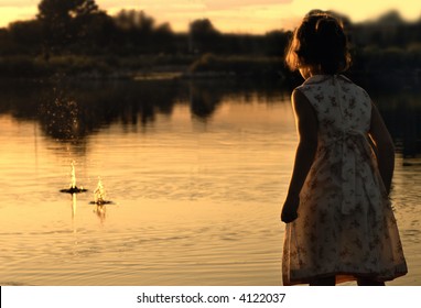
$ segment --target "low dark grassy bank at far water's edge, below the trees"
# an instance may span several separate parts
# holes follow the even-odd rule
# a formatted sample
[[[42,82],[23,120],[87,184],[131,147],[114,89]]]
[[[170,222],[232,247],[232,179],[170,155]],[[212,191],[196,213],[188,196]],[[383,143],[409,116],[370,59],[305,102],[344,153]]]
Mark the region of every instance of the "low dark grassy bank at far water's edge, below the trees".
[[[381,90],[419,90],[419,67],[373,67],[359,61],[344,75],[363,87]],[[31,56],[0,57],[0,80],[179,80],[256,79],[278,80],[295,87],[302,82],[281,57],[230,55],[55,56],[48,61]]]

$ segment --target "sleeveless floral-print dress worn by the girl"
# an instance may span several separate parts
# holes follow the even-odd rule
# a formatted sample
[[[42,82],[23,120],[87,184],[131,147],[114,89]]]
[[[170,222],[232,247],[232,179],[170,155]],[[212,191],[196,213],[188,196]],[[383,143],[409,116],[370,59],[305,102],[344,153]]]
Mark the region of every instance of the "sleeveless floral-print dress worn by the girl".
[[[285,227],[283,284],[404,275],[398,227],[368,136],[369,96],[342,75],[312,76],[296,90],[315,110],[319,136],[299,218]]]

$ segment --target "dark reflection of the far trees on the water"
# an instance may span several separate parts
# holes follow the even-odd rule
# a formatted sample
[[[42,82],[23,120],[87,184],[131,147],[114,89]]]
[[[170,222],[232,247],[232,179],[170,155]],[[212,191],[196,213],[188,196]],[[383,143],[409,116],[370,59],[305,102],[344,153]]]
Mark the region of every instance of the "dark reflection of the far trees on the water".
[[[17,91],[17,87],[26,91]],[[75,151],[85,151],[86,138],[111,123],[128,131],[140,124],[145,132],[156,117],[171,117],[179,103],[188,105],[192,117],[206,122],[233,96],[240,96],[245,102],[261,97],[267,103],[279,102],[280,95],[289,97],[278,84],[233,80],[7,84],[0,89],[0,114],[36,120],[45,135]],[[408,91],[371,96],[403,156],[417,156],[421,152],[421,95]]]

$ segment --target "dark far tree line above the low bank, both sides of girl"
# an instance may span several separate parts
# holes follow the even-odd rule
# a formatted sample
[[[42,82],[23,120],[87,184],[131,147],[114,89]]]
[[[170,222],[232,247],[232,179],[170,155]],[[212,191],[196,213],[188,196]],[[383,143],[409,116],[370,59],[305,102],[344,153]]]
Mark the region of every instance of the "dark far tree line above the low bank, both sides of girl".
[[[421,19],[407,22],[391,11],[373,22],[343,20],[355,69],[421,68]],[[208,19],[195,20],[186,33],[176,33],[170,23],[158,24],[144,11],[121,10],[111,16],[95,0],[42,0],[33,20],[0,29],[0,66],[17,56],[45,63],[56,56],[112,56],[111,63],[116,57],[163,55],[184,65],[202,55],[209,58],[208,54],[282,58],[291,34],[282,29],[266,34],[223,33]]]

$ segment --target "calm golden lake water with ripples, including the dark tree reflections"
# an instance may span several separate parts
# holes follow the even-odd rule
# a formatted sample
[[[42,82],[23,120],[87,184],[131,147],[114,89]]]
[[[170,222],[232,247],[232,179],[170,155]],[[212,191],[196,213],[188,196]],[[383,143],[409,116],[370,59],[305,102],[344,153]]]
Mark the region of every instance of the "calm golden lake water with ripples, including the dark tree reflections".
[[[280,285],[289,92],[225,86],[4,87],[0,284]],[[390,285],[421,285],[417,139],[402,138],[390,97],[382,110],[401,147],[393,199],[410,271]],[[89,189],[73,197],[58,191],[72,162]],[[98,177],[112,205],[89,204]]]

